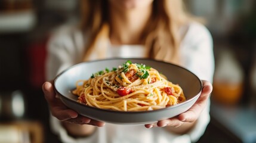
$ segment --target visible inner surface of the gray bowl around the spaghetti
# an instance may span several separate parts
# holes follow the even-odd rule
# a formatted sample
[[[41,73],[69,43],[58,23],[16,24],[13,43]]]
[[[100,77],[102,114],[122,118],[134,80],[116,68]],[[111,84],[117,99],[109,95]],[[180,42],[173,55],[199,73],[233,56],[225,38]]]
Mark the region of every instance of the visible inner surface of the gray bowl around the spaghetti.
[[[77,80],[89,79],[92,73],[104,70],[105,68],[112,69],[113,67],[118,67],[124,64],[127,60],[131,60],[132,63],[146,64],[165,74],[169,81],[181,86],[187,101],[195,97],[195,95],[198,95],[202,89],[201,80],[199,80],[195,74],[183,67],[162,61],[137,58],[117,58],[76,64],[58,74],[54,80],[54,87],[64,97],[76,101],[77,96],[73,95],[71,91],[72,89],[75,89]]]

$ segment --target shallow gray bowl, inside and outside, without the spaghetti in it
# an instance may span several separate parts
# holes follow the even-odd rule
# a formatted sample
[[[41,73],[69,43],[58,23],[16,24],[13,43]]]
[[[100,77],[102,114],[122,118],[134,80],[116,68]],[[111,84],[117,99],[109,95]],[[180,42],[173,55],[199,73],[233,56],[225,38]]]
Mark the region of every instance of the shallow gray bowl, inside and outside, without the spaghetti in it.
[[[104,70],[106,67],[118,67],[127,60],[132,63],[146,64],[165,76],[172,83],[178,83],[183,89],[186,101],[171,107],[152,111],[113,111],[90,107],[77,102],[77,96],[72,94],[77,80],[89,79],[92,73]],[[139,59],[139,58],[112,58],[107,60],[89,61],[76,64],[69,67],[54,79],[54,89],[60,94],[60,99],[67,107],[77,111],[82,116],[102,122],[138,125],[157,122],[158,120],[168,119],[187,111],[198,100],[202,91],[201,80],[191,71],[175,64],[165,63],[163,61]]]

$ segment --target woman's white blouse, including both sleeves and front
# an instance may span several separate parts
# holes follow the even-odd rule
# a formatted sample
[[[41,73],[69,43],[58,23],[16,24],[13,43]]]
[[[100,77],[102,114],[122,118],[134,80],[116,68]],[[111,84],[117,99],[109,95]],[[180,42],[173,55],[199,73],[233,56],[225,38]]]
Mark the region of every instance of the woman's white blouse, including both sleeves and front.
[[[199,78],[212,82],[214,75],[214,53],[212,38],[209,31],[202,24],[190,23],[181,29],[185,33],[180,46],[180,54],[183,57],[184,67],[195,73]],[[48,43],[47,58],[47,79],[53,79],[58,73],[79,63],[84,54],[84,45],[87,42],[87,35],[81,31],[64,26],[53,33]],[[141,58],[144,48],[141,45],[107,46],[106,58]],[[95,60],[94,54],[90,57]],[[114,125],[106,123],[104,127],[97,130],[86,138],[74,139],[67,135],[66,130],[60,125],[55,117],[51,116],[51,128],[54,133],[60,136],[62,142],[195,142],[203,135],[210,120],[209,102],[202,111],[198,122],[190,132],[184,135],[176,135],[167,132],[162,128],[147,129],[144,125]]]

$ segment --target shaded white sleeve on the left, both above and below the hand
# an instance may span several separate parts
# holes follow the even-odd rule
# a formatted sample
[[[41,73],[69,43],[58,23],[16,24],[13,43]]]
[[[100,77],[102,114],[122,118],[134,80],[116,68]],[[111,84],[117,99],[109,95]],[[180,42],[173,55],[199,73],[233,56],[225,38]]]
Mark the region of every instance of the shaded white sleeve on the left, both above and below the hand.
[[[82,61],[83,39],[79,32],[71,32],[69,27],[60,27],[53,32],[47,45],[46,77],[53,80],[61,71]],[[94,142],[98,130],[87,138],[72,138],[63,128],[60,120],[50,114],[50,128],[59,136],[61,142]]]

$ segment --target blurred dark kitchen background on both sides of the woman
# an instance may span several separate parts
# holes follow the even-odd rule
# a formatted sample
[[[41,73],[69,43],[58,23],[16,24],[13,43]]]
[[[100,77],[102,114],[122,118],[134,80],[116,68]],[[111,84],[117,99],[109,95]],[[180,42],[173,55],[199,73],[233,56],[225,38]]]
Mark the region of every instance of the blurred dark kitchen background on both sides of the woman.
[[[256,142],[256,1],[185,0],[214,39],[211,122],[198,142]],[[0,1],[0,142],[59,142],[41,90],[51,32],[78,0]]]

